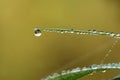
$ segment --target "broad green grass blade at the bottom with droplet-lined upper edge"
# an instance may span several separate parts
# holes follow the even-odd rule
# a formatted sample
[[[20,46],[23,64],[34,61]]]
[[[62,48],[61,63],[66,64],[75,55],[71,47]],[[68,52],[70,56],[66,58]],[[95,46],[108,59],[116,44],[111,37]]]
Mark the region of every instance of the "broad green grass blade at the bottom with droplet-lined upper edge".
[[[54,73],[52,76],[48,76],[41,80],[77,80],[93,72],[96,73],[104,70],[106,71],[120,70],[120,63],[112,63],[112,64],[109,63],[109,64],[100,64],[100,65],[93,64],[90,67],[83,67],[82,69],[76,68],[73,70],[62,71],[61,74]],[[118,79],[112,79],[112,80],[118,80]]]

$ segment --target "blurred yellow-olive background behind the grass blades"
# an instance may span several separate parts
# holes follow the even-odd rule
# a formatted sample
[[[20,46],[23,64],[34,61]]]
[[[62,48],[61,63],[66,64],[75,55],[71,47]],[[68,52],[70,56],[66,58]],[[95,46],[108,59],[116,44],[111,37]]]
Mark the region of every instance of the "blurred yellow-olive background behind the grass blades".
[[[42,32],[35,27],[120,33],[119,0],[0,0],[0,80],[40,80],[62,70],[100,64],[116,39]],[[104,63],[120,61],[120,41]],[[82,80],[108,80],[108,71]]]

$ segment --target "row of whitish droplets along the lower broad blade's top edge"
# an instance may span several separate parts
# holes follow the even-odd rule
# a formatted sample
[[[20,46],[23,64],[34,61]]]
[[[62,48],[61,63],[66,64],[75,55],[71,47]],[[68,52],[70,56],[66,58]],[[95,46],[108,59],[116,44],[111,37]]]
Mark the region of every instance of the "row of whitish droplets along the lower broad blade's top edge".
[[[54,79],[56,77],[59,76],[63,76],[63,75],[67,75],[67,74],[72,74],[72,73],[78,73],[78,72],[82,72],[82,71],[89,71],[89,70],[107,70],[107,69],[120,69],[120,63],[109,63],[109,64],[100,64],[100,65],[96,65],[93,64],[90,67],[83,67],[82,69],[80,68],[75,68],[72,70],[67,70],[67,71],[62,71],[61,74],[58,73],[54,73],[52,76],[48,76],[45,79],[41,79],[41,80],[49,80],[49,79]]]

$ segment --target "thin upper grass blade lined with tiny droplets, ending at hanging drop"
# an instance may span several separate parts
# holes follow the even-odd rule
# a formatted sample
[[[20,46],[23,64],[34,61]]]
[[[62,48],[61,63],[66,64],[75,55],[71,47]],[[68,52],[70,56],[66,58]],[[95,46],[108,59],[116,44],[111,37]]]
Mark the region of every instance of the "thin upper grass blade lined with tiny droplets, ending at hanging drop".
[[[120,39],[120,34],[118,34],[118,33],[97,31],[97,30],[74,30],[74,29],[62,29],[62,28],[39,28],[39,29],[41,31],[43,30],[46,32],[106,35],[106,36]]]

